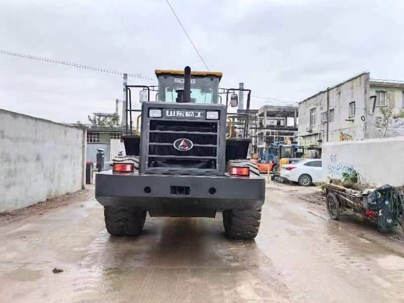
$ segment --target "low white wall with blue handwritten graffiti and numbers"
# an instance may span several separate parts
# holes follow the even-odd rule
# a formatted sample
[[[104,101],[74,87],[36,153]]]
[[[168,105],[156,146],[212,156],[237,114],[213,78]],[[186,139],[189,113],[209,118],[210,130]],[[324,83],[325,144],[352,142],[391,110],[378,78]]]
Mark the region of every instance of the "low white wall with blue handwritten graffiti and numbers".
[[[323,181],[355,169],[366,183],[404,185],[404,137],[324,143]]]

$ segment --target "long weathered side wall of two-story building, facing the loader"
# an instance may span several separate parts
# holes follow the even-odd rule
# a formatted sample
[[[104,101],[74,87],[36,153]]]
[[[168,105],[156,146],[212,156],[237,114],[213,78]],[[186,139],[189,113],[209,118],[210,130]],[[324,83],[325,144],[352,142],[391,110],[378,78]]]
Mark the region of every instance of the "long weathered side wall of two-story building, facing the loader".
[[[329,121],[328,140],[340,141],[340,131],[354,139],[365,138],[369,73],[352,77],[329,89],[329,110],[334,110],[334,121]],[[349,103],[355,102],[356,115],[349,117]],[[310,110],[316,109],[316,123],[310,125]],[[327,122],[321,121],[321,113],[327,112],[327,90],[299,104],[298,136],[300,145],[319,145],[327,141]]]

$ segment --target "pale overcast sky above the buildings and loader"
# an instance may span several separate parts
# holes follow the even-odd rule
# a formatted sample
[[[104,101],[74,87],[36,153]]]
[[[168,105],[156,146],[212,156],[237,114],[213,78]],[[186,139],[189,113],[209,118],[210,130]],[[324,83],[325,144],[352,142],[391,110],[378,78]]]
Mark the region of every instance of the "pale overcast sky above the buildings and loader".
[[[402,0],[170,2],[222,87],[293,103],[364,70],[404,80]],[[206,70],[165,0],[0,0],[0,49],[152,77]],[[121,76],[0,54],[2,109],[87,122],[121,95]]]

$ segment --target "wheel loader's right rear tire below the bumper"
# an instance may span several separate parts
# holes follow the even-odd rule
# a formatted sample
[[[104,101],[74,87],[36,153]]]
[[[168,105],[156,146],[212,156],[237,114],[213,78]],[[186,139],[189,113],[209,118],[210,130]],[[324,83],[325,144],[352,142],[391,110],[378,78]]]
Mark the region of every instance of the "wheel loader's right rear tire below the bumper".
[[[261,208],[223,211],[226,235],[233,239],[254,239],[260,229]]]

